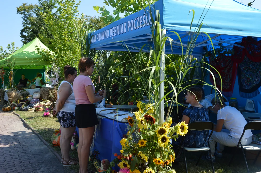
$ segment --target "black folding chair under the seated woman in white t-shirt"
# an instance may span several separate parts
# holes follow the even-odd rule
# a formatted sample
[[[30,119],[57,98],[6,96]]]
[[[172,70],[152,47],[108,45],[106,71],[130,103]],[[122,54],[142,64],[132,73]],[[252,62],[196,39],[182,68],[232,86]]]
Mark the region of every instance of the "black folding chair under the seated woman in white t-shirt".
[[[228,165],[230,165],[232,163],[232,160],[233,160],[233,158],[234,158],[234,156],[236,154],[237,149],[241,148],[242,152],[243,152],[244,159],[245,159],[245,163],[246,163],[246,169],[247,169],[247,172],[249,173],[248,166],[247,166],[247,161],[246,161],[246,156],[245,156],[245,150],[251,150],[251,151],[253,151],[253,150],[260,150],[258,152],[256,158],[254,159],[254,162],[253,162],[253,165],[254,165],[256,163],[256,161],[257,161],[257,158],[258,158],[260,152],[261,152],[261,145],[252,144],[251,143],[250,145],[242,146],[241,139],[244,136],[245,130],[261,130],[261,121],[250,121],[250,122],[246,123],[246,125],[244,127],[244,130],[243,130],[243,133],[242,133],[242,135],[241,135],[241,137],[239,139],[238,145],[236,146],[236,150],[235,150],[235,152],[234,152],[234,154],[233,154],[233,156],[232,156],[232,158],[231,158],[231,160],[230,160]],[[239,146],[239,144],[240,144],[240,146]]]

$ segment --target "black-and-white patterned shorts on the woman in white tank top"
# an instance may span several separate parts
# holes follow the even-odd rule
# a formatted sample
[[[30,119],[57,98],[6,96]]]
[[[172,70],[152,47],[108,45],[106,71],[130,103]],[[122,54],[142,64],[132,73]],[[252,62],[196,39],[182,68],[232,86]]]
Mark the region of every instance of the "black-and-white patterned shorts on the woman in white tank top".
[[[56,116],[57,116],[58,121],[59,121],[59,123],[62,127],[64,127],[64,128],[76,127],[75,113],[74,112],[59,111]]]

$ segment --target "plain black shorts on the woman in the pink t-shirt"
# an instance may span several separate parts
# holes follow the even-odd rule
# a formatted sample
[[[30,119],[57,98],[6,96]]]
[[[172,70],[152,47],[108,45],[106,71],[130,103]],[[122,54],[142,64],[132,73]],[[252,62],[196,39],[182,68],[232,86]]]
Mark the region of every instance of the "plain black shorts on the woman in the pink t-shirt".
[[[75,120],[78,128],[93,127],[99,124],[94,104],[75,106]]]

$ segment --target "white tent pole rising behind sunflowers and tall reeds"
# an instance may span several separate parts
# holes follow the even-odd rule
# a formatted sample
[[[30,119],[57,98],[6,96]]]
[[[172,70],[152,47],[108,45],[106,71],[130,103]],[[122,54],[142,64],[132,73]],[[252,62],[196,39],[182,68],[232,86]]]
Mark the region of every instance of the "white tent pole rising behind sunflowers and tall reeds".
[[[163,29],[161,32],[161,38],[165,37],[166,35],[166,30]],[[161,54],[161,63],[160,63],[160,69],[159,75],[160,75],[160,81],[163,81],[160,85],[159,88],[159,98],[162,99],[164,97],[164,80],[165,80],[165,74],[164,74],[164,69],[165,69],[165,43],[163,46],[163,53]],[[159,103],[159,123],[162,123],[164,121],[164,99]]]

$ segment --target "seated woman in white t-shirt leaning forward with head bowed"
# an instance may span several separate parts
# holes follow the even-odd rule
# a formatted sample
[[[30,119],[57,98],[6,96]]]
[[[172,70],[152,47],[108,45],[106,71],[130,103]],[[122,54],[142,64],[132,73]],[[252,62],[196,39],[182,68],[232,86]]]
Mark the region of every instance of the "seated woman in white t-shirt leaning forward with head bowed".
[[[209,139],[209,145],[211,149],[212,159],[215,160],[215,156],[222,157],[222,151],[224,146],[237,146],[239,139],[243,133],[246,125],[246,120],[243,115],[234,107],[226,106],[224,101],[221,104],[221,98],[213,98],[211,103],[213,108],[217,111],[217,124]],[[226,129],[222,129],[222,127]],[[251,130],[246,130],[244,136],[241,139],[242,145],[249,145],[252,142]],[[218,142],[217,150],[216,142]]]

